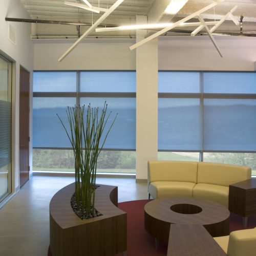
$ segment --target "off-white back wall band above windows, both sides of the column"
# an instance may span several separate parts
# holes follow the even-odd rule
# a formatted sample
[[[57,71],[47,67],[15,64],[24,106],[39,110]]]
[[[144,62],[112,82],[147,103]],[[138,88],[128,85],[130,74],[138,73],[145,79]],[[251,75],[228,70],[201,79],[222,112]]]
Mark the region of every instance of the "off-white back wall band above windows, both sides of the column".
[[[216,36],[223,58],[208,36],[160,36],[159,70],[253,71],[256,37]],[[34,70],[135,70],[134,39],[84,39],[65,59],[71,39],[34,39]]]

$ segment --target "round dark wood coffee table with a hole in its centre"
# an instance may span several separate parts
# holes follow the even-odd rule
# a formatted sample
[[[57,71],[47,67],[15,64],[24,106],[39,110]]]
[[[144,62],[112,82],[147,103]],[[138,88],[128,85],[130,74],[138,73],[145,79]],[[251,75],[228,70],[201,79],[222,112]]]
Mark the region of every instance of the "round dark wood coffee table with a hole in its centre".
[[[168,242],[170,224],[203,225],[212,237],[229,234],[229,210],[193,197],[155,199],[144,206],[144,225],[157,240]]]

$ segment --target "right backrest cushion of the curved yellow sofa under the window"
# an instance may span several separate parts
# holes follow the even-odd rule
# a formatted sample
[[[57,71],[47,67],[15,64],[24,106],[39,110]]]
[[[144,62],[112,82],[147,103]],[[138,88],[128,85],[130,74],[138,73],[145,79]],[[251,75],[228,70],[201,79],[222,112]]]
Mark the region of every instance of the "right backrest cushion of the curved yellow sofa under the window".
[[[251,168],[242,165],[220,163],[198,163],[197,183],[208,183],[222,186],[251,178]]]

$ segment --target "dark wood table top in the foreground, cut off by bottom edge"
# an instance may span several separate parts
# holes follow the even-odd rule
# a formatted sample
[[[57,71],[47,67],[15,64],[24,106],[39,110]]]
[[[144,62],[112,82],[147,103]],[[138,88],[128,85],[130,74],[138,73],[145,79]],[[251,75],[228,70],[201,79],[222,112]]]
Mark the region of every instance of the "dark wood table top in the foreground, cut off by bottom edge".
[[[167,256],[226,256],[202,225],[171,224]]]

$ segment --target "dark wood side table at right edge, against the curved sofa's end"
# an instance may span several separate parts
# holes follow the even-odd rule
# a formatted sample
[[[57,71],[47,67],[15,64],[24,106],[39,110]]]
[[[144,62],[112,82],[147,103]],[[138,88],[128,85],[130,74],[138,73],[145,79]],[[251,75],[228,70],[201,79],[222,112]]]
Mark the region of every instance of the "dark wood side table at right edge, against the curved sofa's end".
[[[243,227],[246,228],[248,217],[256,214],[255,178],[229,185],[228,208],[243,217]]]

